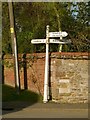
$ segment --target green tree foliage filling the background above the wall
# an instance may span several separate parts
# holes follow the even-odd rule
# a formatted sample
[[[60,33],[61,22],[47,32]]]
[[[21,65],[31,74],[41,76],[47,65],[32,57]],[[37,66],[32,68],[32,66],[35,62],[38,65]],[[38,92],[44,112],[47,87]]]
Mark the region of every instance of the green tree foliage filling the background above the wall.
[[[67,47],[63,46],[63,51],[88,51],[90,49],[89,4],[90,2],[14,2],[18,52],[45,52],[45,45],[32,45],[31,39],[45,38],[46,25],[50,25],[50,31],[68,32],[66,39],[71,39],[72,43],[66,45]],[[2,13],[3,51],[11,53],[7,3],[3,3]],[[58,45],[50,45],[50,51],[58,51]]]

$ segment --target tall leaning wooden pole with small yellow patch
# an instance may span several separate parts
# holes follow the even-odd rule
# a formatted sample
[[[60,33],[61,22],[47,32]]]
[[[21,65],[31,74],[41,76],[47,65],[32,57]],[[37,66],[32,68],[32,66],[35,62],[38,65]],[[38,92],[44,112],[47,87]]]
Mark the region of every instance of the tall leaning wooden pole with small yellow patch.
[[[18,65],[18,53],[17,53],[17,42],[14,30],[14,16],[13,16],[13,6],[12,0],[8,2],[9,7],[9,17],[10,17],[10,32],[11,32],[11,40],[12,40],[12,51],[13,51],[13,59],[14,59],[14,72],[15,72],[15,87],[17,92],[20,89],[20,77],[19,77],[19,65]]]

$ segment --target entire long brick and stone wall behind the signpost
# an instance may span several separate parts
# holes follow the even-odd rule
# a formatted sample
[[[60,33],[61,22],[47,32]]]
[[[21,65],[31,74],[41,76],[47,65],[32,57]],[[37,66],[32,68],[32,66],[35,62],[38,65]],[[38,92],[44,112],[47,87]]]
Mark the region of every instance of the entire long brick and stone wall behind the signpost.
[[[88,102],[88,53],[50,53],[49,87],[52,101]],[[15,86],[12,56],[4,57],[4,83]],[[19,55],[21,89],[43,95],[45,53]]]

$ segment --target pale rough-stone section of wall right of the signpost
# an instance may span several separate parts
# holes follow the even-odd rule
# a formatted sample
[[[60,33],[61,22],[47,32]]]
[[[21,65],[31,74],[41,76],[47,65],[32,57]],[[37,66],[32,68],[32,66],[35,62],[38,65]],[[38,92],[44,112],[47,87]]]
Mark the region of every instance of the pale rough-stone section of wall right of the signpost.
[[[63,103],[88,100],[88,61],[56,59],[51,68],[52,99]]]

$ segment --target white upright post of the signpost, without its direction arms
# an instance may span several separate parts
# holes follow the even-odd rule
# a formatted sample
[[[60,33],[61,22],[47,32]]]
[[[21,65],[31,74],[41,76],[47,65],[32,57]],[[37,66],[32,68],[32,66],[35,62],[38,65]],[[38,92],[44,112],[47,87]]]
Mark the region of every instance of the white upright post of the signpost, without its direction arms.
[[[48,75],[49,75],[49,25],[46,28],[46,59],[45,59],[45,79],[44,79],[44,99],[46,103],[49,98],[49,86],[48,86]]]

